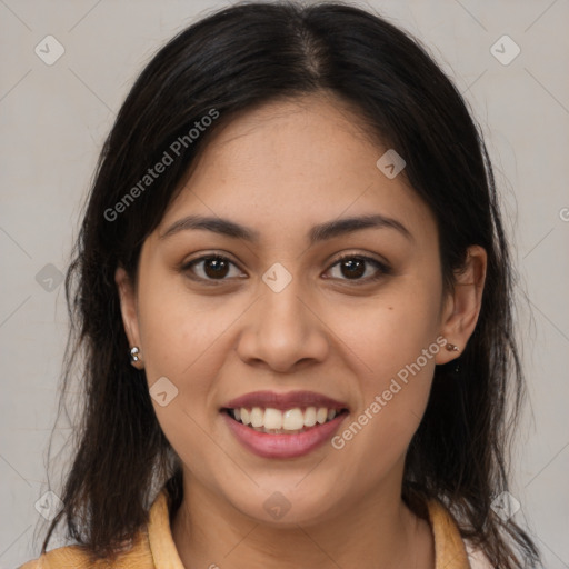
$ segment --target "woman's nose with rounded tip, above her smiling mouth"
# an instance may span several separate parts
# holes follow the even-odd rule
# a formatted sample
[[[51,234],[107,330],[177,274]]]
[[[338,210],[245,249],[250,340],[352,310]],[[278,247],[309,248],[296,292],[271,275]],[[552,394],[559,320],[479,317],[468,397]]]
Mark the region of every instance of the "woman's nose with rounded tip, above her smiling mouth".
[[[237,352],[248,365],[281,373],[321,362],[329,350],[321,318],[296,279],[280,292],[267,288],[243,315]]]

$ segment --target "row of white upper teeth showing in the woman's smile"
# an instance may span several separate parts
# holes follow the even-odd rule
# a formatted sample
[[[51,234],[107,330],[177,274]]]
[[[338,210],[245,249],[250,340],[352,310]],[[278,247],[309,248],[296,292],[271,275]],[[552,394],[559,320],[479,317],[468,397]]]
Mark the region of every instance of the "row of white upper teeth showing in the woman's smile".
[[[307,407],[305,410],[299,407],[281,411],[268,407],[253,407],[247,409],[241,407],[232,409],[236,420],[252,427],[260,432],[302,432],[306,428],[313,427],[315,425],[323,425],[331,421],[337,415],[336,409],[328,409],[326,407]]]

